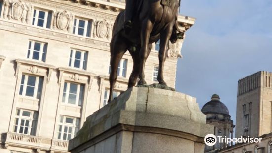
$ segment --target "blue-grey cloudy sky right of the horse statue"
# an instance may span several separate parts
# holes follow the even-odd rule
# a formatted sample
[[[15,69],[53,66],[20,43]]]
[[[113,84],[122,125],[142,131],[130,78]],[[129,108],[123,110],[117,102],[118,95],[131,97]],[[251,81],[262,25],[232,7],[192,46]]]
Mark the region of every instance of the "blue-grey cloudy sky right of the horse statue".
[[[216,93],[236,124],[238,80],[272,72],[272,0],[182,0],[180,14],[196,18],[178,60],[176,90],[200,109]]]

